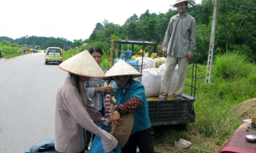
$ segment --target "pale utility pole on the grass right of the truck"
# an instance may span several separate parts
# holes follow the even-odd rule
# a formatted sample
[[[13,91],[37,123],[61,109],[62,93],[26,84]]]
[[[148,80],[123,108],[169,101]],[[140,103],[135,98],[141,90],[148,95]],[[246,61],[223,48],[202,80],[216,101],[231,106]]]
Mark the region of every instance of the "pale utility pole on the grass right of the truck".
[[[212,15],[210,46],[209,46],[209,55],[208,55],[206,79],[205,79],[205,82],[208,82],[208,83],[210,83],[212,60],[214,59],[215,35],[216,35],[216,27],[217,27],[219,1],[220,0],[215,0],[214,14]]]

